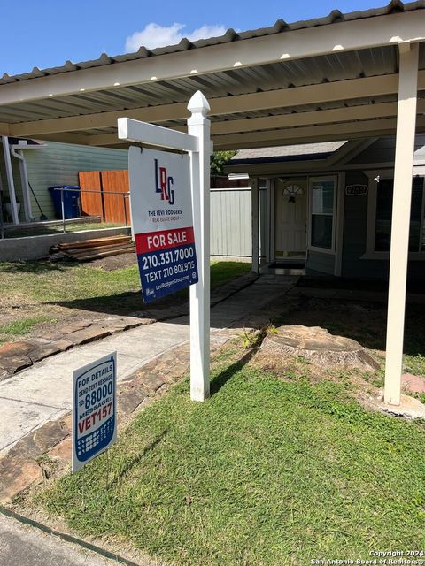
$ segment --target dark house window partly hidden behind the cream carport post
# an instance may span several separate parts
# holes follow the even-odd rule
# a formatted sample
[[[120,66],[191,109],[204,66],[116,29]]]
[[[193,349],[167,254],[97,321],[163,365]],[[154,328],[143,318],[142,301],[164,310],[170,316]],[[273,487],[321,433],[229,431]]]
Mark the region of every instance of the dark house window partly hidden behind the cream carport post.
[[[394,180],[382,179],[376,187],[375,251],[390,251]],[[423,229],[423,177],[413,177],[409,252],[425,251]]]

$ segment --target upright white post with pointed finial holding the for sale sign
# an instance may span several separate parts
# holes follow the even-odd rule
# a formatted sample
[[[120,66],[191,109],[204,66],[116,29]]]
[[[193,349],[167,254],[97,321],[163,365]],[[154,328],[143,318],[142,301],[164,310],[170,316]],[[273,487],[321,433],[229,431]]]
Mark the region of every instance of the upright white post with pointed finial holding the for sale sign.
[[[199,282],[190,287],[190,398],[210,394],[210,105],[198,90],[188,104],[188,133],[197,136],[198,151],[189,152],[193,227]]]

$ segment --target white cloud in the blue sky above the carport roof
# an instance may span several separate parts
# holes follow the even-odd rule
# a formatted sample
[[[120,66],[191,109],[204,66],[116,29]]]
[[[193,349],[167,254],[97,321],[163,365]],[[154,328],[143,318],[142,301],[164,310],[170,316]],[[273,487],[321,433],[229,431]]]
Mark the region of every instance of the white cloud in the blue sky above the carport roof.
[[[126,40],[126,52],[136,51],[141,45],[147,49],[155,47],[164,47],[166,45],[174,45],[187,37],[189,41],[195,42],[197,39],[206,39],[208,37],[215,37],[222,35],[226,32],[224,26],[208,26],[204,25],[197,27],[193,32],[183,31],[185,24],[174,23],[172,26],[163,27],[151,22],[143,28],[140,32],[135,32],[129,35]]]

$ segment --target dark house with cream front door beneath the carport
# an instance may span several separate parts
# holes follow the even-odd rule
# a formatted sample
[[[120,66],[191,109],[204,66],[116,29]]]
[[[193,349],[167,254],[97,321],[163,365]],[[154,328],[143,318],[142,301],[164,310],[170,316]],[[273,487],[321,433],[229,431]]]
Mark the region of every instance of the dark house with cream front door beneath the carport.
[[[266,193],[259,199],[263,229],[253,229],[259,267],[298,264],[310,274],[387,278],[394,157],[393,137],[240,150],[226,170],[248,174]],[[411,279],[425,279],[424,179],[425,135],[417,135]]]

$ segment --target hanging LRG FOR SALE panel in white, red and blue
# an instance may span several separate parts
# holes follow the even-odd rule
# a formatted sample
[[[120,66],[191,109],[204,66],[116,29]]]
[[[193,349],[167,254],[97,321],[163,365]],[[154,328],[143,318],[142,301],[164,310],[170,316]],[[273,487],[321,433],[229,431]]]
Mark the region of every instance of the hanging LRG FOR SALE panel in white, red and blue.
[[[131,147],[128,168],[144,302],[197,283],[189,157]]]

